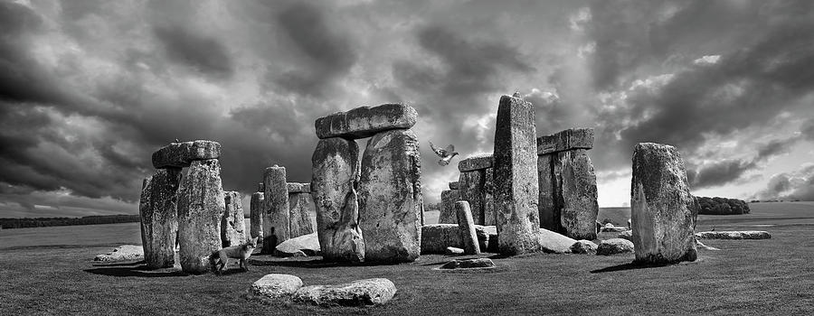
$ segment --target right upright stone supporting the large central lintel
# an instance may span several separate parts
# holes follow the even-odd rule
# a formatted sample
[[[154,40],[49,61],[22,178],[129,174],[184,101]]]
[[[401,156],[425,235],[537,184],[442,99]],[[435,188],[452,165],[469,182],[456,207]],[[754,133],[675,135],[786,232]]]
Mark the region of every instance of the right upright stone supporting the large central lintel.
[[[412,262],[421,253],[421,155],[411,130],[374,135],[362,156],[359,228],[364,260]]]

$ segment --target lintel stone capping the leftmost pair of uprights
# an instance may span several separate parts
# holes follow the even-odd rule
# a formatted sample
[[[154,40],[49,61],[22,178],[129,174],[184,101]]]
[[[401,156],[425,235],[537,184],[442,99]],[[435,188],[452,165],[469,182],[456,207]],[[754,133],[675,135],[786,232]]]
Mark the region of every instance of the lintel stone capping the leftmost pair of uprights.
[[[153,153],[153,166],[156,169],[183,168],[195,160],[218,159],[221,157],[221,144],[212,141],[170,143]]]

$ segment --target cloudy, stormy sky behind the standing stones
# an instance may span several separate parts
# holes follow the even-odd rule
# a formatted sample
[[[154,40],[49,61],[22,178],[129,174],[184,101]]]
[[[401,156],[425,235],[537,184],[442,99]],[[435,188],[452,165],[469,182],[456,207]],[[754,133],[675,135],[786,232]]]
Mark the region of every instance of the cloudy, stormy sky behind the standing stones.
[[[811,1],[0,0],[0,30],[4,218],[137,214],[176,138],[220,142],[248,209],[266,167],[310,181],[317,117],[393,102],[435,203],[458,170],[428,141],[491,152],[516,91],[537,135],[595,129],[601,207],[639,142],[699,196],[814,200]]]

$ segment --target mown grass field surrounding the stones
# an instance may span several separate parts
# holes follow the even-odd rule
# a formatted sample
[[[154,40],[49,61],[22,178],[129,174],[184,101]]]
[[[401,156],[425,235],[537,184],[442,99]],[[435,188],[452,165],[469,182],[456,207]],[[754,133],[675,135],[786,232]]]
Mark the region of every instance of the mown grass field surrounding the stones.
[[[6,247],[0,250],[0,314],[812,314],[814,225],[808,221],[814,205],[765,204],[752,206],[754,221],[744,221],[747,215],[715,225],[771,225],[760,228],[771,239],[708,240],[722,250],[701,251],[694,263],[647,268],[629,265],[632,255],[536,254],[495,256],[495,270],[454,273],[434,270],[449,258],[421,256],[412,264],[379,266],[280,259],[248,273],[188,276],[90,261],[109,246]],[[762,215],[771,209],[778,209],[774,217]],[[722,218],[729,217],[713,219]],[[601,236],[608,237],[615,235]],[[249,285],[270,273],[295,274],[306,284],[386,277],[398,293],[368,308],[248,301]]]

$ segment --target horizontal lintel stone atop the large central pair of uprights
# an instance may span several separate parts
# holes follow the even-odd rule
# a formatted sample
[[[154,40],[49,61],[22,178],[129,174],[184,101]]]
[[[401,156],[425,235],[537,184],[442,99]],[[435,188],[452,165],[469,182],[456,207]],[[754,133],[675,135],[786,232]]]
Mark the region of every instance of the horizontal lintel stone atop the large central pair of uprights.
[[[359,139],[392,129],[408,129],[418,120],[414,108],[402,104],[356,107],[317,118],[317,137]]]

